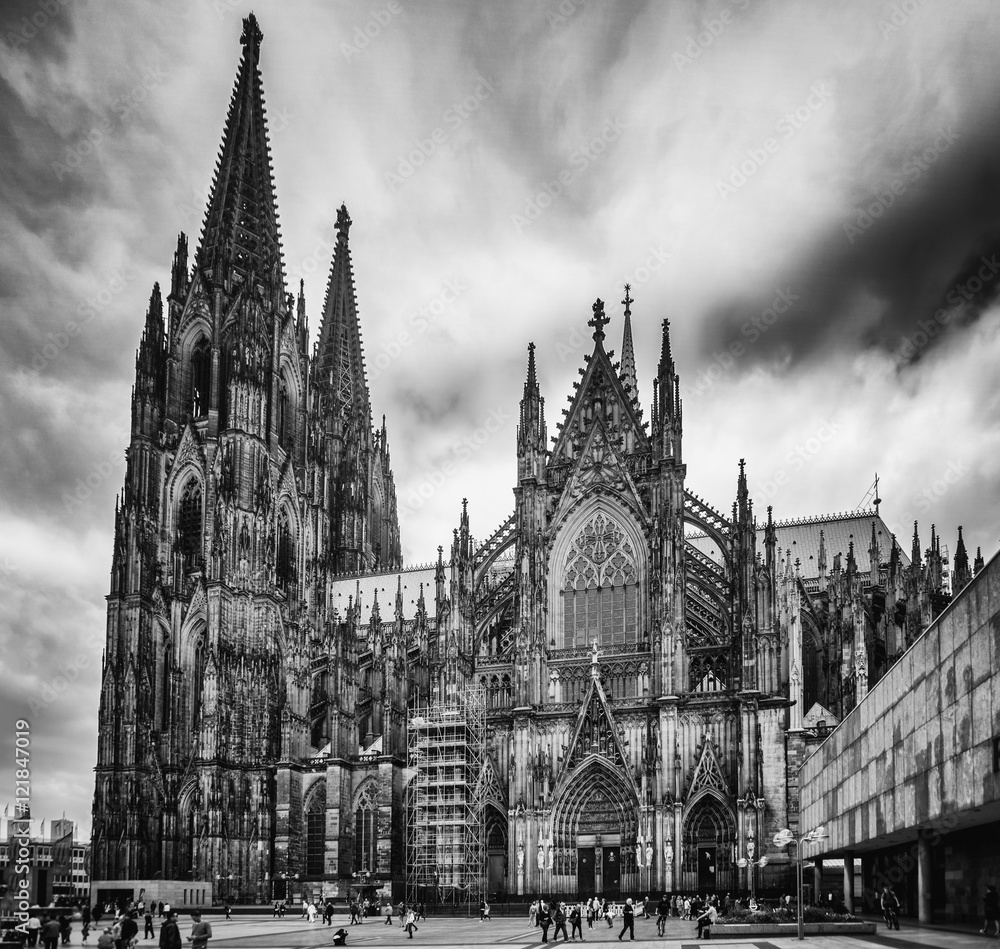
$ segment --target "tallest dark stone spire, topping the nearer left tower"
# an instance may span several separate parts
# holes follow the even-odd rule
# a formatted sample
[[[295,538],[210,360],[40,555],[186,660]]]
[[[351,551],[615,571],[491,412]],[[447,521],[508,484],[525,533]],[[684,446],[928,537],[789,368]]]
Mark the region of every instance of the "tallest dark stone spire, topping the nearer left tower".
[[[271,287],[276,298],[283,299],[281,237],[258,68],[263,38],[251,13],[243,20],[243,58],[229,102],[197,260],[216,282],[254,275]]]

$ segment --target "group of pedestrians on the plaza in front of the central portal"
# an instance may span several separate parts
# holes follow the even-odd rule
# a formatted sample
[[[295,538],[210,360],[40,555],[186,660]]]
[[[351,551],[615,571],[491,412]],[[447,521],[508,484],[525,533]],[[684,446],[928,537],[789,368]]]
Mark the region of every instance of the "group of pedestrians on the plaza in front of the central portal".
[[[667,918],[673,916],[696,921],[698,938],[701,939],[710,933],[712,924],[725,913],[727,903],[728,896],[721,899],[718,896],[702,899],[700,896],[669,896],[664,893],[655,906],[657,935],[665,935]],[[552,933],[553,941],[558,941],[559,934],[562,933],[563,942],[576,942],[577,939],[583,942],[584,919],[587,920],[588,929],[593,929],[595,923],[602,920],[607,922],[610,929],[614,927],[614,917],[620,915],[622,928],[618,934],[619,941],[624,939],[626,933],[629,939],[634,940],[636,916],[650,919],[651,908],[648,896],[635,901],[630,897],[621,905],[596,896],[582,903],[570,905],[558,900],[535,900],[528,908],[528,918],[533,926],[542,930],[542,942],[549,941],[549,928],[552,926],[555,926]],[[568,932],[567,922],[570,925]]]

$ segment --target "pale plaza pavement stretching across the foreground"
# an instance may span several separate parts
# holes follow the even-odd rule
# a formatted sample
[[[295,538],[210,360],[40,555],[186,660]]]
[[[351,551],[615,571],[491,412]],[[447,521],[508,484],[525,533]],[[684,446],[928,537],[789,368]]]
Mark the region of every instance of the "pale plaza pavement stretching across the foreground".
[[[234,915],[226,920],[221,916],[207,914],[212,924],[214,938],[209,949],[299,949],[299,947],[330,946],[332,934],[343,926],[349,933],[347,947],[387,947],[387,949],[465,949],[474,946],[510,946],[515,949],[537,949],[542,945],[541,930],[528,924],[521,917],[496,917],[489,922],[480,922],[477,916],[471,919],[452,916],[430,917],[419,923],[418,931],[410,940],[405,930],[401,930],[398,920],[386,926],[381,918],[370,917],[364,923],[348,924],[342,913],[334,916],[332,926],[323,925],[320,919],[308,923],[297,916],[273,919],[270,913]],[[156,935],[152,939],[140,939],[139,947],[155,947],[159,943],[160,920],[154,920]],[[188,916],[180,918],[181,935],[187,944],[191,931]],[[80,928],[74,924],[71,945],[79,946]],[[584,940],[602,944],[617,942],[621,924],[608,928],[601,922],[594,929],[587,929],[584,923]],[[141,929],[140,929],[141,932]],[[656,935],[655,919],[637,919],[635,924],[636,946],[634,949],[694,949],[705,945],[705,940],[695,938],[697,928],[692,922],[668,920],[667,933]],[[552,930],[549,930],[550,942]],[[628,942],[626,936],[625,941]],[[97,936],[92,931],[89,946],[96,946]],[[969,949],[972,946],[992,947],[1000,943],[987,939],[971,931],[945,930],[941,928],[921,928],[903,925],[903,929],[891,935],[880,929],[875,936],[807,936],[805,942],[786,937],[760,937],[755,939],[712,939],[708,945],[720,943],[727,949],[791,949],[804,946],[806,949]]]

